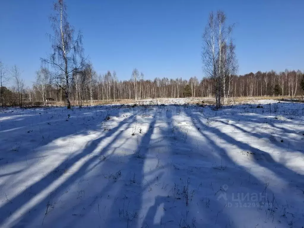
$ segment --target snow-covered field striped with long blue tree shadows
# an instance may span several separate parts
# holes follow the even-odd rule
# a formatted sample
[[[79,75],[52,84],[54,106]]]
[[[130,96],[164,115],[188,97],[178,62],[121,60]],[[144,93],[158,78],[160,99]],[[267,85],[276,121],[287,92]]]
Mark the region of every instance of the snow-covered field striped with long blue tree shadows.
[[[274,102],[4,109],[0,226],[302,227],[304,104]]]

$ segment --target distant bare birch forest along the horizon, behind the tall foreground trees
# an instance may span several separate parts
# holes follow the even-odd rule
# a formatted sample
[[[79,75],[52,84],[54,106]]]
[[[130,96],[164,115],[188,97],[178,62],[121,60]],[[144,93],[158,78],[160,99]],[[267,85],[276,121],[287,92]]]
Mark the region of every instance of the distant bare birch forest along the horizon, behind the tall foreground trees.
[[[19,69],[17,69],[18,74]],[[16,71],[15,71],[16,73]],[[50,72],[43,68],[37,71],[37,81],[33,87],[23,88],[22,100],[26,102],[43,102],[44,100],[64,101],[64,89],[51,82]],[[214,80],[192,77],[168,79],[155,78],[145,80],[143,74],[134,69],[132,79],[121,81],[116,73],[97,75],[89,66],[85,73],[74,75],[71,81],[69,97],[71,101],[105,101],[121,99],[149,99],[149,98],[184,98],[184,97],[214,97]],[[233,76],[230,82],[229,97],[243,96],[284,96],[295,97],[302,94],[300,82],[303,73],[298,71],[261,72]],[[229,86],[229,85],[228,85]],[[19,105],[18,90],[2,87],[3,104]]]

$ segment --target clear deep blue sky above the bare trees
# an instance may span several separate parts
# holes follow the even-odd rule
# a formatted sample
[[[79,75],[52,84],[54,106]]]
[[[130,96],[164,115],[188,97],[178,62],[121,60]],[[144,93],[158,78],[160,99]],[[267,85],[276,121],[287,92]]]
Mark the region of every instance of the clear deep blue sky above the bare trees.
[[[50,53],[52,0],[2,0],[0,59],[16,64],[27,85]],[[304,69],[304,1],[66,0],[69,21],[84,36],[95,70],[130,79],[203,77],[202,33],[210,11],[235,23],[239,74]]]

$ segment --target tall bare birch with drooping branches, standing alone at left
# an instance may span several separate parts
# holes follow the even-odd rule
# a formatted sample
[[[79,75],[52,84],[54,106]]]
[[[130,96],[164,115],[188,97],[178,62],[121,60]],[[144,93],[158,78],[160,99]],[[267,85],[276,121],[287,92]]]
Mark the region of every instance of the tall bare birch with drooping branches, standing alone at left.
[[[53,53],[42,59],[44,63],[50,64],[58,74],[54,74],[54,81],[65,92],[67,108],[71,108],[69,99],[70,83],[75,73],[79,73],[85,66],[82,57],[82,34],[78,31],[74,36],[74,28],[67,21],[67,6],[64,0],[54,3],[55,14],[50,16],[54,34],[48,34],[52,41]]]

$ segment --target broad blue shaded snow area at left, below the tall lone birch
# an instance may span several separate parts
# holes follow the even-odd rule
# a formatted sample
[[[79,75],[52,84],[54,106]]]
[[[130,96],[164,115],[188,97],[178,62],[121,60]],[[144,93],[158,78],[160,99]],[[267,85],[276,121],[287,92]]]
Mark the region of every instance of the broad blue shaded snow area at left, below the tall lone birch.
[[[20,123],[9,121],[15,125],[14,127],[17,127],[16,130],[0,131],[0,139],[3,140],[0,144],[0,165],[25,162],[26,167],[31,167],[37,161],[36,159],[42,157],[45,149],[43,146],[52,141],[67,136],[88,135],[90,131],[98,131],[100,122],[96,124],[95,121],[96,119],[104,120],[108,115],[108,110],[110,107],[25,110],[25,112],[33,112],[33,115],[26,116]],[[18,115],[23,111],[19,112]],[[89,115],[85,115],[85,112]],[[111,114],[119,115],[120,112],[123,112],[123,109],[112,109]],[[8,121],[2,122],[0,124],[8,127],[6,124]],[[19,129],[19,127],[21,128]]]

